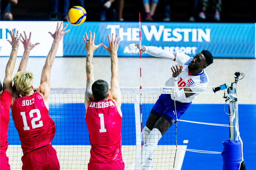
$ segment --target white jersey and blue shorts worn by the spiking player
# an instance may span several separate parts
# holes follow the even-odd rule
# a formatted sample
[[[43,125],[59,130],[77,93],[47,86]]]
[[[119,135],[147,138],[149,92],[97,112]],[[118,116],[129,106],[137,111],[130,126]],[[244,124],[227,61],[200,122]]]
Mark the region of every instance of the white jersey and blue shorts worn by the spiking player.
[[[189,57],[183,53],[176,54],[176,62],[183,66],[182,72],[178,75],[178,86],[190,87],[193,92],[202,92],[206,89],[209,78],[204,69],[201,73],[196,75],[190,73],[188,66],[192,59],[193,57]],[[173,81],[173,77],[166,81],[165,86],[171,86],[171,81]],[[177,119],[188,110],[192,100],[195,99],[197,95],[196,93],[186,99],[180,99],[174,102],[170,94],[161,94],[150,113],[165,118],[170,125],[172,125],[174,121],[177,121]],[[175,105],[177,115],[175,114]]]

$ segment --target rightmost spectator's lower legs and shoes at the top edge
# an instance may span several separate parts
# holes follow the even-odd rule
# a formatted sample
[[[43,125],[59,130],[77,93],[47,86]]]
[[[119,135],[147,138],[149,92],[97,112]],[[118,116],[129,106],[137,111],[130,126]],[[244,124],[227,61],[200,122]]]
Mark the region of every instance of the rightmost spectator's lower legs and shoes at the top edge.
[[[201,12],[199,13],[198,17],[205,20],[206,19],[205,11],[208,7],[209,0],[201,0],[201,4],[202,4]],[[221,17],[220,17],[221,0],[213,0],[213,4],[214,4],[214,8],[215,8],[214,20],[220,21],[221,20]]]

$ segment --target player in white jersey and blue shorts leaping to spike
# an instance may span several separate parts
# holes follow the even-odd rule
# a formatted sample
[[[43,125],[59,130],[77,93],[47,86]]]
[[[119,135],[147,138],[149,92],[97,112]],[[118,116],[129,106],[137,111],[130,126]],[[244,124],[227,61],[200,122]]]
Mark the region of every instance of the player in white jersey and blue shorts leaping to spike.
[[[129,48],[130,50],[140,48],[140,45],[131,43]],[[165,83],[167,87],[175,87],[175,95],[161,94],[159,96],[148,116],[146,126],[143,128],[143,140],[145,142],[142,156],[142,163],[145,160],[143,170],[154,170],[152,160],[158,141],[169,127],[188,110],[192,100],[198,95],[197,92],[202,92],[206,89],[209,78],[204,68],[212,64],[213,57],[207,50],[196,54],[195,57],[189,57],[183,53],[175,54],[154,46],[142,46],[141,52],[143,53],[144,51],[155,57],[172,59],[179,64],[179,66],[172,66],[172,77]],[[174,100],[176,103],[177,119]],[[131,165],[128,169],[133,169],[133,167],[134,165]]]

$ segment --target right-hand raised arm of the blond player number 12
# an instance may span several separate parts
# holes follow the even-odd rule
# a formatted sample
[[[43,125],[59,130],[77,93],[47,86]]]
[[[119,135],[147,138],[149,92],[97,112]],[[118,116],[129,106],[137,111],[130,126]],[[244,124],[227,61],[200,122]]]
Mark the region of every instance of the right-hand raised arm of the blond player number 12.
[[[48,106],[47,101],[48,101],[48,97],[50,94],[50,87],[51,87],[51,81],[50,81],[51,68],[57,53],[58,44],[63,38],[64,34],[70,31],[70,30],[64,31],[67,28],[67,24],[66,26],[64,26],[64,28],[62,28],[62,25],[63,25],[63,22],[61,22],[60,26],[59,26],[59,23],[57,23],[56,31],[54,34],[52,34],[51,32],[48,32],[49,34],[51,34],[53,38],[52,47],[49,51],[49,54],[46,57],[46,61],[41,74],[41,83],[39,88],[36,91],[43,96],[46,106]]]

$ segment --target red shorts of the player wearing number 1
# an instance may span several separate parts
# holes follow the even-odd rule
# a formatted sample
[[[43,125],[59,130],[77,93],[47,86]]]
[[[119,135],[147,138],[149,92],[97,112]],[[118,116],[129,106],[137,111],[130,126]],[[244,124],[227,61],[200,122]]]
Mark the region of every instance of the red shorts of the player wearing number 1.
[[[88,170],[124,170],[125,163],[124,161],[114,161],[114,162],[89,162]]]

